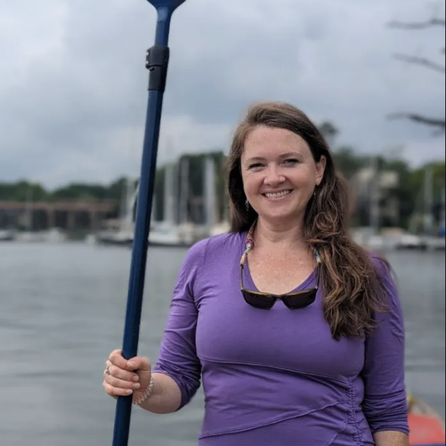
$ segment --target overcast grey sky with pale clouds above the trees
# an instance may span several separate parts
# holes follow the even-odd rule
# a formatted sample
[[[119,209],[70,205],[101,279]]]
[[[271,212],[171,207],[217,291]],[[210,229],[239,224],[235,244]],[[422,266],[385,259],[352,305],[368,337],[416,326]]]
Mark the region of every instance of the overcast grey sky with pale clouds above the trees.
[[[411,163],[445,158],[445,137],[396,111],[445,115],[445,78],[391,58],[444,63],[444,28],[422,0],[187,0],[173,17],[158,162],[227,150],[248,104],[285,100],[339,143],[404,144]],[[444,16],[444,2],[440,7]],[[156,13],[144,0],[0,0],[0,182],[46,187],[136,176],[147,104],[145,51]]]

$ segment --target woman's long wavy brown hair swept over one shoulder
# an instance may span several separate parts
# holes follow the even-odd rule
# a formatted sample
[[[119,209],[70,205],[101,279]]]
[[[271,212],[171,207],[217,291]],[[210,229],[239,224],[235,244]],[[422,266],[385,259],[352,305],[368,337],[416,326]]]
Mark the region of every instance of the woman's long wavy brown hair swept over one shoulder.
[[[301,136],[316,162],[325,156],[323,180],[306,208],[304,238],[322,260],[325,320],[334,339],[362,336],[374,327],[374,315],[384,309],[385,292],[370,255],[349,236],[349,189],[334,162],[325,138],[301,110],[290,104],[253,104],[234,133],[228,158],[231,231],[247,231],[257,212],[245,207],[241,156],[245,140],[257,126],[284,128]]]

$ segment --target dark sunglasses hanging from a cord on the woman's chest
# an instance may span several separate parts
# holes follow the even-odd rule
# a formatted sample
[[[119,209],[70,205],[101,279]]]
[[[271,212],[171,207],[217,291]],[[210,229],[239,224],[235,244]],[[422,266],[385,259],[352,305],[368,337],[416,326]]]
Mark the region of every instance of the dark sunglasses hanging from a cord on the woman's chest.
[[[279,300],[281,300],[290,310],[303,309],[306,306],[313,304],[313,302],[316,300],[320,279],[320,262],[318,262],[317,268],[318,276],[316,279],[316,285],[314,288],[311,288],[311,290],[288,292],[285,295],[272,295],[269,292],[247,290],[243,286],[243,264],[241,264],[240,283],[243,298],[247,304],[261,310],[270,310]]]

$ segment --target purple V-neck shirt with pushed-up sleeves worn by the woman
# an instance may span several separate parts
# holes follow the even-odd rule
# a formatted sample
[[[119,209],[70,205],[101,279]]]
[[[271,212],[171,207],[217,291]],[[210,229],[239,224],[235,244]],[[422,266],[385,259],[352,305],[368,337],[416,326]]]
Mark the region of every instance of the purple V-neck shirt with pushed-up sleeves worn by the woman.
[[[252,308],[240,291],[243,234],[196,243],[175,286],[155,372],[180,386],[181,407],[203,380],[199,446],[369,446],[377,431],[408,432],[403,316],[390,273],[391,311],[366,339],[334,341],[316,302]],[[249,262],[245,288],[256,290]],[[311,288],[316,270],[296,290]]]

